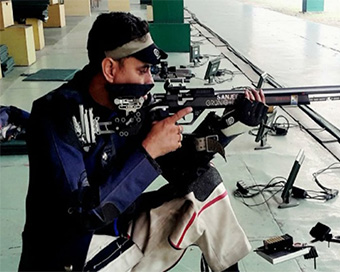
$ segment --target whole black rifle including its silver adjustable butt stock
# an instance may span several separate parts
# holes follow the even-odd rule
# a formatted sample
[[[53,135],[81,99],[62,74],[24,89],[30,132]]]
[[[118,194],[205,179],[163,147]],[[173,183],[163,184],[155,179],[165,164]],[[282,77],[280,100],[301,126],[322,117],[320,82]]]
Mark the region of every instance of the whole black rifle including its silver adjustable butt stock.
[[[91,114],[91,109],[84,110],[80,107],[80,122],[74,120],[78,136],[86,139],[84,140],[86,145],[95,143],[95,136],[100,134],[134,135],[143,124],[146,115],[150,114],[151,121],[161,120],[185,107],[192,107],[192,118],[190,121],[184,120],[181,124],[190,125],[204,110],[236,108],[237,101],[244,97],[246,87],[231,90],[214,90],[211,87],[187,88],[183,83],[166,81],[164,89],[164,93],[150,94],[147,106],[143,105],[145,102],[141,98],[116,99],[115,104],[121,114],[112,121],[100,122],[99,117]],[[310,95],[326,95],[313,100],[340,100],[339,95],[330,96],[340,94],[340,86],[272,88],[263,89],[263,92],[268,106],[309,104]],[[225,118],[225,122],[227,126],[230,126],[235,120],[231,115],[231,118]]]

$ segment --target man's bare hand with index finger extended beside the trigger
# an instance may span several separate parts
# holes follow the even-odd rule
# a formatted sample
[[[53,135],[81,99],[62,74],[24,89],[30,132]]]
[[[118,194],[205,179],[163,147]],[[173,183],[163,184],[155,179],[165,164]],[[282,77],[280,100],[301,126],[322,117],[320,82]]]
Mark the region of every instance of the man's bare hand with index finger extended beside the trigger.
[[[184,108],[174,115],[154,122],[151,130],[142,142],[144,149],[152,158],[163,156],[182,146],[183,127],[177,121],[192,112],[192,108]]]

